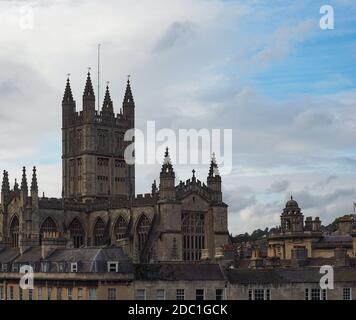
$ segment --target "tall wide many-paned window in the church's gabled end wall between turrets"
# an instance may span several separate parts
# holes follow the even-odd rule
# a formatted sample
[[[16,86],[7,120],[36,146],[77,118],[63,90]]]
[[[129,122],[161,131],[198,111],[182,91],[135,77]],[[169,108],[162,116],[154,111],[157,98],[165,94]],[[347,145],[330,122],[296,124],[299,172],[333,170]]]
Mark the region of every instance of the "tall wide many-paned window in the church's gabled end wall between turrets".
[[[204,249],[204,214],[200,212],[182,213],[183,260],[197,261]]]

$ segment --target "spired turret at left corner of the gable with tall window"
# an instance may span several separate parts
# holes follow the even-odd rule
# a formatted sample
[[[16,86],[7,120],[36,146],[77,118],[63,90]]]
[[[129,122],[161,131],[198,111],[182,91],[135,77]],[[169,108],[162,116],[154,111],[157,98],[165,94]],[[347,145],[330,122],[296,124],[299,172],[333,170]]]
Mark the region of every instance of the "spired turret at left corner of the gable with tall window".
[[[169,157],[168,148],[164,154],[164,161],[160,173],[159,199],[160,200],[175,200],[175,173],[171,159]]]

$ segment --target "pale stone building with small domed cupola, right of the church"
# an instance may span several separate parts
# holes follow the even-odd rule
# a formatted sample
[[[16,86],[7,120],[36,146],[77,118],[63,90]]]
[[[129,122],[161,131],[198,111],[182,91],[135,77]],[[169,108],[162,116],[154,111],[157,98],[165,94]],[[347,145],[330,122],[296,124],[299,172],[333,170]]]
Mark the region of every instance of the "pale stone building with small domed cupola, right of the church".
[[[281,225],[268,237],[268,258],[280,260],[336,259],[345,264],[356,256],[356,221],[351,217],[339,219],[338,230],[332,234],[322,231],[319,217],[304,215],[291,197],[281,214]]]

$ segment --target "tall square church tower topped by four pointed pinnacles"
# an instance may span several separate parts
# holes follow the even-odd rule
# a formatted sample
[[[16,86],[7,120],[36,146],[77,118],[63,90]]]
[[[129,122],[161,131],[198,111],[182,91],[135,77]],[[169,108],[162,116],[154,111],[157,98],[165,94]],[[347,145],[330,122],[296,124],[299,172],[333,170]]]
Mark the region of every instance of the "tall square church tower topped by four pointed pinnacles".
[[[62,101],[63,197],[107,199],[135,195],[135,165],[124,159],[125,132],[134,129],[135,103],[127,81],[122,110],[115,115],[109,87],[102,109],[95,109],[90,72],[83,93],[83,110],[76,111],[70,81]]]

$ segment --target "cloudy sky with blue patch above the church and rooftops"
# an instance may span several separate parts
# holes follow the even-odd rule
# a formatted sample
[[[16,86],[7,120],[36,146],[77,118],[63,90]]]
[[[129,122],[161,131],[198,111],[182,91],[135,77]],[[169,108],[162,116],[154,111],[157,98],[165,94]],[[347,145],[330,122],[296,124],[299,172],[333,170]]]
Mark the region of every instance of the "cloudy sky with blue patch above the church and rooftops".
[[[325,4],[333,30],[319,25]],[[66,77],[80,110],[100,43],[101,87],[119,112],[131,75],[138,128],[232,129],[231,233],[278,225],[291,195],[324,224],[353,212],[355,1],[3,0],[0,28],[0,170],[12,184],[36,165],[40,192],[61,195]],[[137,166],[138,193],[159,168]],[[194,168],[206,181],[208,167]],[[176,166],[177,182],[192,169]]]

